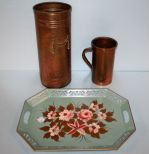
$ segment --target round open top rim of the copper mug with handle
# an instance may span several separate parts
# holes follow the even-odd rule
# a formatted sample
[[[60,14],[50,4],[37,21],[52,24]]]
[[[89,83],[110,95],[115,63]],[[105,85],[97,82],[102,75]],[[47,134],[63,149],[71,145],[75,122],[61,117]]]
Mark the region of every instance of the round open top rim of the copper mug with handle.
[[[98,45],[97,45],[96,41],[98,41]],[[101,42],[99,42],[99,41],[106,41],[105,42],[106,43],[105,46],[101,45],[100,44]],[[107,45],[107,43],[108,43],[108,45]],[[91,41],[91,45],[96,47],[96,48],[101,48],[101,49],[112,49],[112,48],[116,48],[118,46],[118,42],[114,38],[112,38],[112,37],[100,36],[100,37],[95,37]]]

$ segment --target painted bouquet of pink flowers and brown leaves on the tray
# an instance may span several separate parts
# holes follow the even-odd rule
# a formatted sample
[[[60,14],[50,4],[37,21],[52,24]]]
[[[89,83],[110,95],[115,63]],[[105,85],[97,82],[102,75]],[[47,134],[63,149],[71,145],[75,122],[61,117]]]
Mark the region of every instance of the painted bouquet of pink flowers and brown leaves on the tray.
[[[108,132],[107,123],[116,121],[114,112],[107,111],[102,103],[94,100],[90,105],[75,106],[69,103],[66,107],[50,105],[48,110],[37,118],[37,122],[44,123],[39,128],[43,131],[43,138],[59,141],[60,138],[71,136],[100,138]]]

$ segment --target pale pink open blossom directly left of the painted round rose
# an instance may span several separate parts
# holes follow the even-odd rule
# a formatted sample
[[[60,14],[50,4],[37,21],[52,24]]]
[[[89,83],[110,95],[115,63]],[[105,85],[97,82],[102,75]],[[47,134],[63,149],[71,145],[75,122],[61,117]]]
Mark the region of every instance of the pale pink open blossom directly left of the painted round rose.
[[[60,115],[59,119],[63,121],[69,121],[74,116],[71,110],[66,110],[66,109],[60,112],[59,115]]]

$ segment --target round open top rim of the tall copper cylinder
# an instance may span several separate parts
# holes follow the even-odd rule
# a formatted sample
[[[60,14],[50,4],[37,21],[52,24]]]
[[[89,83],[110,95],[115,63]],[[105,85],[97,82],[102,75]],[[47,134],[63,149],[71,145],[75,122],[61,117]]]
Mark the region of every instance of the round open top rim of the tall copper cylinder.
[[[52,8],[52,5],[56,6],[53,9],[48,9]],[[58,8],[58,6],[61,6],[61,8]],[[46,8],[47,7],[47,8]],[[40,13],[61,13],[61,12],[66,12],[66,11],[71,11],[72,7],[71,5],[67,4],[67,3],[63,3],[63,2],[42,2],[42,3],[38,3],[35,4],[33,6],[33,10],[35,12],[40,12]]]

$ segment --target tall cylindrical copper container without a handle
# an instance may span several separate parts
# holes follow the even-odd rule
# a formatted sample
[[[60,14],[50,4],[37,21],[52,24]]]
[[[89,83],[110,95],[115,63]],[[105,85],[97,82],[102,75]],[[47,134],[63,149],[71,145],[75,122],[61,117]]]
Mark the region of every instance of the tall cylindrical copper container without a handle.
[[[33,7],[41,82],[60,88],[71,81],[71,6],[45,2]]]

